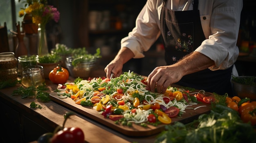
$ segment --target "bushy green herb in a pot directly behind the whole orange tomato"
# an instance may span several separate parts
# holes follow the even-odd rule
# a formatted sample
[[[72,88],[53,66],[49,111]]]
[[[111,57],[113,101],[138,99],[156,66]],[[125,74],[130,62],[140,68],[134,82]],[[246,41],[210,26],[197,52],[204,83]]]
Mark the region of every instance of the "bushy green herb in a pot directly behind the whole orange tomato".
[[[43,66],[44,77],[49,79],[49,73],[59,64],[62,64],[61,56],[57,54],[48,54],[38,57],[38,65]]]

